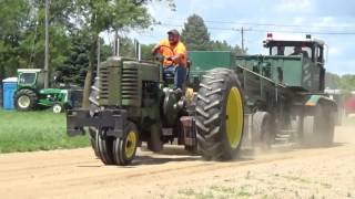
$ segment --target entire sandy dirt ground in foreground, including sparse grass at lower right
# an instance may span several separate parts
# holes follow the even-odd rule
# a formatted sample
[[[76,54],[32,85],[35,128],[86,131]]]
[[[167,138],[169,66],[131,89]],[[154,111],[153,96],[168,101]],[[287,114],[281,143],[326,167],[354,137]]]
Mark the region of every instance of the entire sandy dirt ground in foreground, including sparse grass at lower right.
[[[355,198],[355,127],[329,148],[203,161],[180,147],[103,166],[91,148],[0,155],[0,198]]]

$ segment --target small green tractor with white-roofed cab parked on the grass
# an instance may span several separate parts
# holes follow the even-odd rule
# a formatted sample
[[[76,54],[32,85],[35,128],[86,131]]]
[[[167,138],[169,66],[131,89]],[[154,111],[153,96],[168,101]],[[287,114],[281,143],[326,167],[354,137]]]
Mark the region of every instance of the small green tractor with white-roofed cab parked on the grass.
[[[40,69],[19,69],[18,90],[14,94],[14,107],[28,112],[41,107],[52,107],[53,113],[62,113],[70,107],[69,91],[44,88],[44,72]]]

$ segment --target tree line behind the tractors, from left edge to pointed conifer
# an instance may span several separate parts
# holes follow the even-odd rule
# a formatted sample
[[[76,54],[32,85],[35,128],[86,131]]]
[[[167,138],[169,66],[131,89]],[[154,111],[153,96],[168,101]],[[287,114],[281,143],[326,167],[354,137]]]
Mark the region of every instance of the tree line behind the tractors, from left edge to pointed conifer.
[[[151,28],[156,21],[146,6],[153,0],[60,0],[50,1],[50,74],[63,83],[84,86],[89,94],[97,64],[98,43],[101,59],[112,55],[112,44],[99,38],[101,32],[130,32]],[[174,10],[173,0],[166,7]],[[0,1],[0,80],[14,76],[17,69],[42,69],[44,65],[45,0]],[[171,29],[171,28],[166,28]],[[240,46],[213,41],[203,19],[191,15],[182,30],[187,50],[233,51]],[[156,41],[159,42],[159,41]],[[154,44],[142,45],[142,57],[151,59]],[[133,41],[121,38],[121,55],[133,56]],[[85,98],[85,96],[84,96]]]

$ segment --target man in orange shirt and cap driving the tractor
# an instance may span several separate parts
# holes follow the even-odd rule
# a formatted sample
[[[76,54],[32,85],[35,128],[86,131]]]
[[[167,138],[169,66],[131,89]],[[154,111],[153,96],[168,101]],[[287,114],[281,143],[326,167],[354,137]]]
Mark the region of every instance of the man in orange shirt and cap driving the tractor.
[[[164,74],[174,75],[174,88],[183,88],[186,78],[187,54],[185,45],[180,41],[180,33],[173,29],[168,32],[168,39],[156,44],[153,54],[160,53],[164,56]]]

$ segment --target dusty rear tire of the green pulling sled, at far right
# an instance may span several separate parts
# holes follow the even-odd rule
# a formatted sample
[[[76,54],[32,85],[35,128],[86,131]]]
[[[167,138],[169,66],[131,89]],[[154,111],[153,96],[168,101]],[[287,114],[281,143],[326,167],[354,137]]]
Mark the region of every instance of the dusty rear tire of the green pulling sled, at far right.
[[[333,144],[334,114],[317,105],[312,115],[303,118],[302,144],[306,147],[326,147]]]

